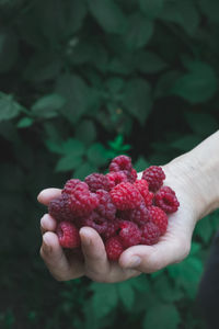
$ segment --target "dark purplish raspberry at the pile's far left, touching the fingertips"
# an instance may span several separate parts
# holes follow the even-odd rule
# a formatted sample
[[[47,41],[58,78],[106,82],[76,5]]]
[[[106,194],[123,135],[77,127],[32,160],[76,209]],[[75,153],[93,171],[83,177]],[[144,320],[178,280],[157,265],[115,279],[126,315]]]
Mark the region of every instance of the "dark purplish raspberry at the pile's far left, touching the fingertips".
[[[67,196],[61,195],[60,197],[54,198],[49,202],[48,213],[57,222],[74,219],[68,207],[67,198]]]

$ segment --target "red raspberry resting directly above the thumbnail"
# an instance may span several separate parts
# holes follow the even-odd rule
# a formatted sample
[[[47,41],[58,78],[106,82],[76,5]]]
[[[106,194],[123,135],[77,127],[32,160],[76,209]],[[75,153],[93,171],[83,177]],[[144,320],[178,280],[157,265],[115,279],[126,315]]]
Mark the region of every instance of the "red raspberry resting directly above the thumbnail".
[[[136,246],[140,242],[141,232],[135,223],[122,220],[119,227],[120,241],[125,248]]]

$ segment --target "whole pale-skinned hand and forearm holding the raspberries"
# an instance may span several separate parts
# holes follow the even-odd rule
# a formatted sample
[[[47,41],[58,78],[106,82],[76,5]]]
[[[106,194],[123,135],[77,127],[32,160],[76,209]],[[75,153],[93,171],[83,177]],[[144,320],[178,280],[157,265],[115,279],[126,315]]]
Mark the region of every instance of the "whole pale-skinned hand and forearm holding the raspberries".
[[[119,282],[181,262],[189,253],[196,223],[219,207],[219,131],[162,168],[164,184],[176,192],[180,208],[169,217],[166,234],[157,245],[130,247],[118,262],[107,260],[101,237],[90,227],[80,230],[84,260],[67,256],[55,234],[55,219],[48,214],[43,216],[41,256],[56,280],[87,275],[96,282]],[[48,205],[60,193],[58,189],[46,189],[38,201]]]

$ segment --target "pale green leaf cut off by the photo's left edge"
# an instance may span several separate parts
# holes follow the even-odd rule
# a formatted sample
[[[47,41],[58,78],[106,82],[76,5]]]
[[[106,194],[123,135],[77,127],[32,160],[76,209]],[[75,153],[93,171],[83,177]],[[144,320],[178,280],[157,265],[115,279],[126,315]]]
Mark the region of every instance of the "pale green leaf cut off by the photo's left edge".
[[[18,116],[21,111],[22,106],[13,100],[11,94],[0,92],[0,122]]]

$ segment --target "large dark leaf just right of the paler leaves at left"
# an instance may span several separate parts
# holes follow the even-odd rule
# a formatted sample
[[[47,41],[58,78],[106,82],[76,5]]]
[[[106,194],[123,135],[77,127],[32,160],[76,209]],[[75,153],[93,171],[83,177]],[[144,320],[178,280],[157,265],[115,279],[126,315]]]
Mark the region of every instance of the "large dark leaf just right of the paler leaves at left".
[[[91,103],[90,88],[79,76],[67,73],[58,79],[56,90],[67,100],[60,112],[76,124]]]

